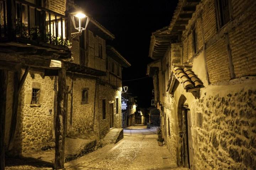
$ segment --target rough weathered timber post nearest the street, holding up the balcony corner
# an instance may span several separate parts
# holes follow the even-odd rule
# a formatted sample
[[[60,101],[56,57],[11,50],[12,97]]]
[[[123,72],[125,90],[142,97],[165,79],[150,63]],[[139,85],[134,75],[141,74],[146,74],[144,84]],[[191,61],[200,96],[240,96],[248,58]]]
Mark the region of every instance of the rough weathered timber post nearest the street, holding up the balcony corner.
[[[54,169],[64,169],[65,149],[65,114],[66,114],[66,70],[59,69],[58,73],[58,97],[57,117],[55,122],[55,160]]]

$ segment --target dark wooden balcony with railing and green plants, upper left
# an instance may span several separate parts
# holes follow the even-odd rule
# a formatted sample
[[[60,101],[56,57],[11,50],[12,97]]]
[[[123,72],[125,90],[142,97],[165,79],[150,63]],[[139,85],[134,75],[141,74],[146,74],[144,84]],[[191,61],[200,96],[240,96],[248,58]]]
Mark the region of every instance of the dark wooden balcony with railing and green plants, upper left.
[[[71,58],[67,20],[67,16],[24,0],[0,0],[0,52]]]

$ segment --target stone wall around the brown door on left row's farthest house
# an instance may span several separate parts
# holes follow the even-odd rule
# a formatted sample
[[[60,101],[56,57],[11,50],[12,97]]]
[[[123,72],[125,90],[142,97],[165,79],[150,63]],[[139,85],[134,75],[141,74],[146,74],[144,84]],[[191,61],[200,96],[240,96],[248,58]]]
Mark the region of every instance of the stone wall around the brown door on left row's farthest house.
[[[122,113],[121,113],[121,91],[111,89],[110,87],[99,86],[99,105],[98,105],[98,118],[100,122],[100,138],[103,138],[110,130],[110,102],[114,103],[114,128],[122,128]],[[119,109],[116,113],[116,97],[119,99]],[[106,99],[106,119],[102,120],[102,100]]]

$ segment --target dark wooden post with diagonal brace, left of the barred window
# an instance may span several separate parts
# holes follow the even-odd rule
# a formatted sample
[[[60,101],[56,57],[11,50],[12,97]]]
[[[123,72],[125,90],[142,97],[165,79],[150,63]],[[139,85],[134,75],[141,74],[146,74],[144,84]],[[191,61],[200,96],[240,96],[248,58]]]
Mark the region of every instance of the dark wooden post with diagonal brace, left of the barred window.
[[[12,103],[12,118],[11,118],[11,129],[10,129],[10,138],[9,138],[9,146],[8,149],[11,150],[14,142],[14,135],[16,131],[17,125],[17,112],[18,112],[18,98],[20,96],[21,87],[23,86],[28,71],[30,67],[26,67],[24,74],[20,80],[20,72],[16,72],[14,74],[14,96],[13,96],[13,103]]]

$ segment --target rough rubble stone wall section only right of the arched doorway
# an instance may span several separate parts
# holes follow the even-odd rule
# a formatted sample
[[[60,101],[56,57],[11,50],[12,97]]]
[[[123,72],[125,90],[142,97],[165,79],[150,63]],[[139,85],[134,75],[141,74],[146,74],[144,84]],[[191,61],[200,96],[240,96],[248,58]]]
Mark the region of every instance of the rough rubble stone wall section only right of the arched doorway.
[[[229,89],[229,90],[226,90]],[[198,169],[256,169],[254,83],[202,90],[194,120]]]

